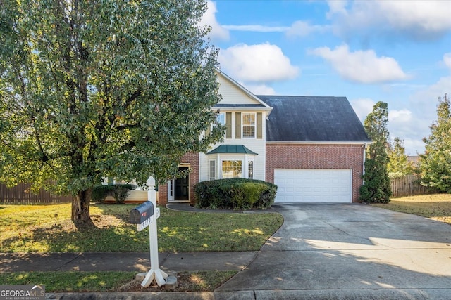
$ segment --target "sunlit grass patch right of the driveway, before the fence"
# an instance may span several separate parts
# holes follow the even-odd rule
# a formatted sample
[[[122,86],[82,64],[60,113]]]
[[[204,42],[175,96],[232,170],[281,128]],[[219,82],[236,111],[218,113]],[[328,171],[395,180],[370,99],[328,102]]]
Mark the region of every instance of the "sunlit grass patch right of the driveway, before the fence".
[[[393,198],[387,204],[371,204],[375,207],[425,216],[451,225],[451,195],[431,194]]]

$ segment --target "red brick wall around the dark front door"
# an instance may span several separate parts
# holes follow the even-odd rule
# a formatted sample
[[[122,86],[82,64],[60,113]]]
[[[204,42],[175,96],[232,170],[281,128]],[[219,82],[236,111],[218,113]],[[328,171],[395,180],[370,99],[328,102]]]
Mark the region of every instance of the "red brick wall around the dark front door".
[[[199,182],[199,153],[197,152],[189,152],[180,159],[180,164],[184,164],[183,167],[187,167],[189,165],[190,172],[190,203],[194,204],[194,185]],[[158,204],[166,205],[168,204],[168,183],[164,183],[163,185],[159,185],[158,187]]]

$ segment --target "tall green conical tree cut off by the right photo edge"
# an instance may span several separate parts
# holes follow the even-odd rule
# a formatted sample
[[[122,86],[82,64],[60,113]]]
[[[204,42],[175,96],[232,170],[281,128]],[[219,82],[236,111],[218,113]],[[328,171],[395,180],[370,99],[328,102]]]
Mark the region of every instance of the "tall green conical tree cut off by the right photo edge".
[[[450,97],[438,98],[437,121],[424,138],[426,151],[420,155],[421,183],[443,193],[451,193],[451,103]]]

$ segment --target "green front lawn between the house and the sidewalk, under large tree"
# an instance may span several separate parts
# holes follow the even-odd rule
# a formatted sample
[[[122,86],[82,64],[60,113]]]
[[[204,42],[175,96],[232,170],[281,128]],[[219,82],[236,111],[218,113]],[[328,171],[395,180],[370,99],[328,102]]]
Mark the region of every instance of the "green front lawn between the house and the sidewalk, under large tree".
[[[0,252],[147,252],[148,230],[128,223],[134,204],[92,204],[97,226],[77,230],[70,204],[0,204]],[[283,223],[280,214],[192,213],[161,207],[159,252],[252,251]]]

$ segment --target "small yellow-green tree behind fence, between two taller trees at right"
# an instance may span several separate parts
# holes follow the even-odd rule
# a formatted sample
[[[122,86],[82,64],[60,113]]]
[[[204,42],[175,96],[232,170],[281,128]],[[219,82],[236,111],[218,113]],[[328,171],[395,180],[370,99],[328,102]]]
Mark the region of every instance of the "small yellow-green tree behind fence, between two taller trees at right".
[[[407,159],[406,148],[400,138],[395,138],[393,144],[389,145],[387,171],[390,178],[402,177],[414,171],[414,165]]]

